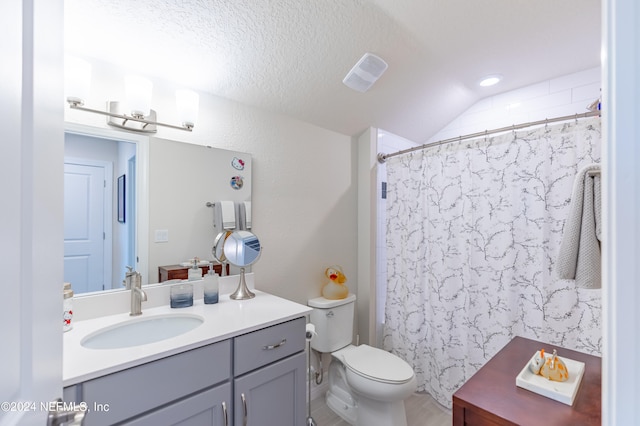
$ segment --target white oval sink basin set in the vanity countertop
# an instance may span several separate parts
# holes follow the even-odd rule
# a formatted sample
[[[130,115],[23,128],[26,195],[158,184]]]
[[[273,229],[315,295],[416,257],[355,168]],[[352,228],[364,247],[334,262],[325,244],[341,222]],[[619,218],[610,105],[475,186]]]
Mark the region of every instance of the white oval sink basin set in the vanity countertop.
[[[189,314],[141,317],[102,328],[82,339],[89,349],[121,349],[179,336],[202,325],[204,318]]]

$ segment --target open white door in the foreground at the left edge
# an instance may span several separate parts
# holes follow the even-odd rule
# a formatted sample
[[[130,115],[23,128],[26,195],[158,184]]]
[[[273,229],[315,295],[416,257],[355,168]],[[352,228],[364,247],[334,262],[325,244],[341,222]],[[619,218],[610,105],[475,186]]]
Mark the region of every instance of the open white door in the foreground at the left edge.
[[[0,1],[2,426],[43,426],[62,397],[63,11]]]

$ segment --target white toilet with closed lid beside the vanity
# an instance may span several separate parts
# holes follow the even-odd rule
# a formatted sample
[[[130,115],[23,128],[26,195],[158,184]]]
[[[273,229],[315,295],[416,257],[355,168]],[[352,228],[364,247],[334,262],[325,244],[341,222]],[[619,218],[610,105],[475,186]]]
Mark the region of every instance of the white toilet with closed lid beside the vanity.
[[[317,333],[311,347],[332,357],[327,405],[352,425],[406,426],[404,399],[416,390],[413,369],[389,352],[351,344],[355,300],[349,294],[308,302]]]

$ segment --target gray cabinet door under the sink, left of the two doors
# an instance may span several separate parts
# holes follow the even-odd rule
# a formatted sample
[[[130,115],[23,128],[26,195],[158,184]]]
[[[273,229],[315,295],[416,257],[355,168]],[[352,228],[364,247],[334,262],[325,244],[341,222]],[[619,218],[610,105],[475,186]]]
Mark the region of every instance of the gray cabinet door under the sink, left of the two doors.
[[[231,384],[225,383],[123,424],[127,426],[230,426],[230,403]]]

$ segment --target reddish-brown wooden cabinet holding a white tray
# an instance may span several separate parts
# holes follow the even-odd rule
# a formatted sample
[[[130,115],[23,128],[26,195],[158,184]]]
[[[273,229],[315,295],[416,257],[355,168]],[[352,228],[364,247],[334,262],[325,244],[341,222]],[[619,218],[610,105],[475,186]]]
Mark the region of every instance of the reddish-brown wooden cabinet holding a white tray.
[[[585,363],[573,406],[516,386],[516,376],[544,348]],[[453,394],[453,425],[600,425],[601,358],[515,337]]]

